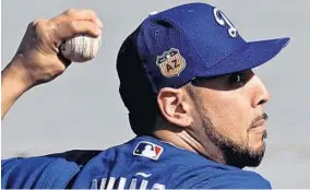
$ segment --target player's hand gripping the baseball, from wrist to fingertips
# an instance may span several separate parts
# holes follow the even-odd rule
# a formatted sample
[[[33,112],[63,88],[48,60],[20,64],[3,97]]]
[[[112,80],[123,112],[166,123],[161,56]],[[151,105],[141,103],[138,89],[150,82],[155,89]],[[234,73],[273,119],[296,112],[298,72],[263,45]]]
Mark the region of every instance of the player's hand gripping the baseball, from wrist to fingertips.
[[[49,82],[60,75],[70,60],[60,56],[60,45],[68,38],[86,34],[98,37],[103,24],[91,10],[68,10],[51,20],[32,22],[14,56],[32,85]]]

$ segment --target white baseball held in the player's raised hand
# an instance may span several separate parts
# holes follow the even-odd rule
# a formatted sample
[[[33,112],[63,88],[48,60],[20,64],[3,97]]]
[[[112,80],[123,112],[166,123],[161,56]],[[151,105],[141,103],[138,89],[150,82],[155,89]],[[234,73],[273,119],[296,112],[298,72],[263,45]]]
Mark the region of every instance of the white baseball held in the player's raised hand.
[[[60,45],[61,55],[73,62],[85,62],[93,59],[102,46],[102,36],[94,38],[86,34],[76,35]]]

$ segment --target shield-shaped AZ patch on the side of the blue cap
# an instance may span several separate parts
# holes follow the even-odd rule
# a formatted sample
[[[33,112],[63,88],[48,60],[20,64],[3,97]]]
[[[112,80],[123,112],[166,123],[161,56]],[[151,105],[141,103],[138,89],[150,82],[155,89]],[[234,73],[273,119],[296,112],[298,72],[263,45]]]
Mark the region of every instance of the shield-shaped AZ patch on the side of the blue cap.
[[[178,49],[171,48],[157,57],[156,64],[159,67],[164,76],[172,78],[180,75],[184,70],[187,62]]]

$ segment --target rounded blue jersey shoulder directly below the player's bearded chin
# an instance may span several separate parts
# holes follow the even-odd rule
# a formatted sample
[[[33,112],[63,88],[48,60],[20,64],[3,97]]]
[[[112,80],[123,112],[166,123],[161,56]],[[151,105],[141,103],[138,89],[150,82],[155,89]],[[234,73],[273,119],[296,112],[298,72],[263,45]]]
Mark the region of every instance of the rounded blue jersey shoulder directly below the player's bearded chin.
[[[271,189],[269,180],[261,175],[213,164],[183,169],[177,188],[194,189]]]

